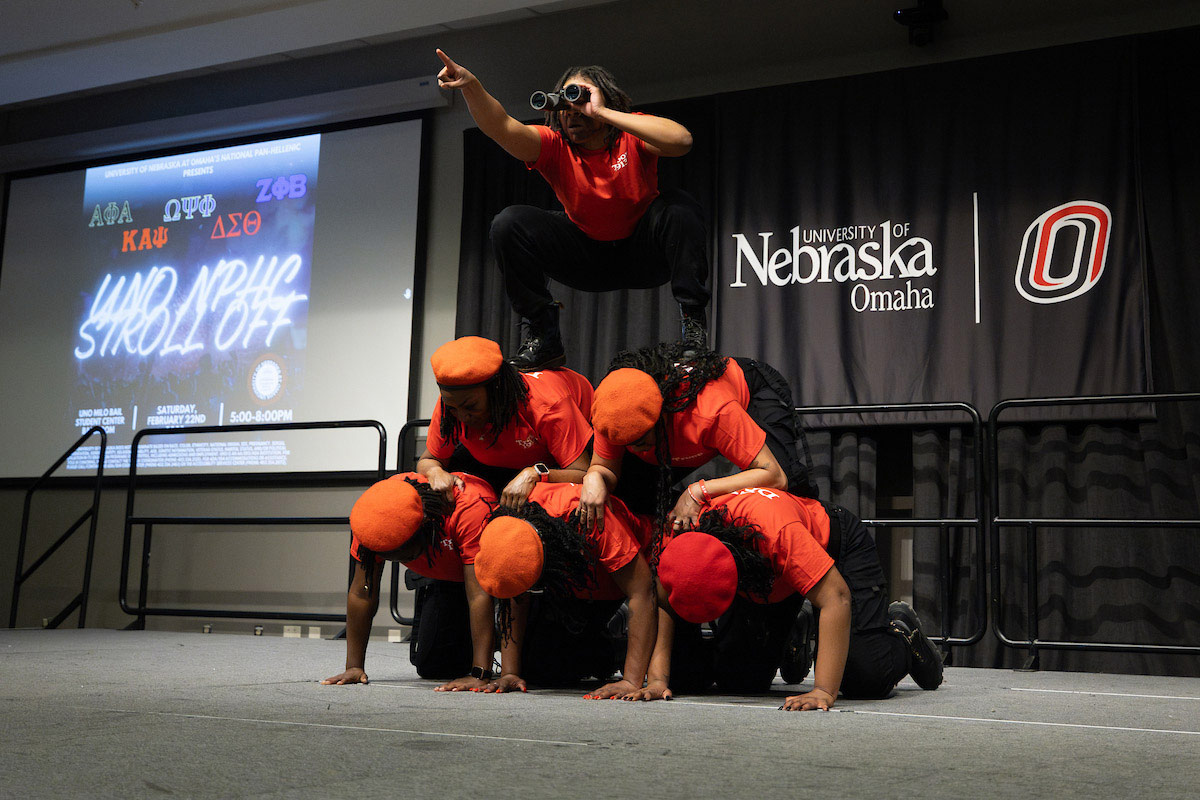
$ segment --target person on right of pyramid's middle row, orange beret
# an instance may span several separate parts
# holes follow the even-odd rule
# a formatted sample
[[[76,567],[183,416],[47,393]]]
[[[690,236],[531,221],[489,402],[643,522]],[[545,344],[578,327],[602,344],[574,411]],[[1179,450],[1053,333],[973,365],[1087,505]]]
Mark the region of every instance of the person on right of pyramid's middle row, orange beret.
[[[596,387],[592,421],[586,524],[602,521],[610,494],[653,513],[660,530],[694,525],[707,498],[751,486],[816,495],[787,380],[751,359],[672,343],[620,353]],[[742,471],[672,493],[716,456]]]

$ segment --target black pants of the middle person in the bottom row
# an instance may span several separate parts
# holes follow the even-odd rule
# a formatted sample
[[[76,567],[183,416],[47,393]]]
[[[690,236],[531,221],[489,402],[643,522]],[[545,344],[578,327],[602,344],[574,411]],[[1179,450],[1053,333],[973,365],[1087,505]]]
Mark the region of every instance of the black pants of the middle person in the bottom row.
[[[522,676],[536,686],[571,686],[588,678],[607,680],[618,656],[608,620],[620,603],[533,595],[521,646]]]

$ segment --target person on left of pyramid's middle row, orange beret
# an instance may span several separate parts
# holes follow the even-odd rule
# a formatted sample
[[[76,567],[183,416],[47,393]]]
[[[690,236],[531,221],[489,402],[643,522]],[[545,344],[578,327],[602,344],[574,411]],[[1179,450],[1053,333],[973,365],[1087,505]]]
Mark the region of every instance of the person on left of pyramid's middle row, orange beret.
[[[518,506],[539,482],[580,481],[592,457],[592,384],[571,369],[520,373],[479,336],[430,359],[440,397],[416,471],[436,491],[451,470],[485,479],[500,505]]]

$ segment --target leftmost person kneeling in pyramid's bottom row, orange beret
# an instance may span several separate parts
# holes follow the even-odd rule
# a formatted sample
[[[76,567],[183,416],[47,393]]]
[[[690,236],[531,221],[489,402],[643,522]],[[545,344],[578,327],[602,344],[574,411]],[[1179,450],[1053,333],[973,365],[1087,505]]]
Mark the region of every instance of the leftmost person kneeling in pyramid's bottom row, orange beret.
[[[346,596],[346,672],[322,684],[366,684],[367,639],[379,609],[384,561],[401,561],[419,581],[409,660],[421,678],[451,678],[437,691],[478,690],[492,678],[492,599],[475,579],[479,537],[496,494],[455,474],[454,498],[425,477],[402,473],[362,493],[350,511],[354,577]],[[464,591],[466,590],[466,591]]]

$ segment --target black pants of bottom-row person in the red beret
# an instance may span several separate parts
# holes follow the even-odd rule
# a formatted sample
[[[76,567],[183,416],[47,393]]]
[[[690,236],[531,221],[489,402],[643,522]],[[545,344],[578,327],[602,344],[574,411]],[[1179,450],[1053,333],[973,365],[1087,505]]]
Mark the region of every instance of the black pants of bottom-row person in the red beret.
[[[904,640],[888,630],[888,593],[875,541],[845,509],[829,507],[841,529],[835,566],[850,587],[850,651],[841,679],[848,698],[887,697],[908,672]],[[799,594],[778,603],[738,596],[721,615],[712,639],[698,625],[676,621],[671,686],[679,692],[706,690],[713,681],[726,692],[764,692],[782,661],[784,642],[804,602]],[[817,652],[820,654],[820,640]]]

